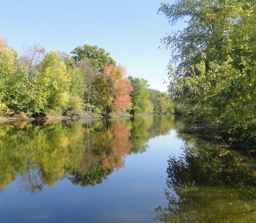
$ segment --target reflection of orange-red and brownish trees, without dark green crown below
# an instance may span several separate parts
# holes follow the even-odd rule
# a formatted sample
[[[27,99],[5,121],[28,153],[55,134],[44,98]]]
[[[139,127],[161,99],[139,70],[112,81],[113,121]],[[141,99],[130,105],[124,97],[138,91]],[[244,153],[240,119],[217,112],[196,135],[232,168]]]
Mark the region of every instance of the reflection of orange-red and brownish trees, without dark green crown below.
[[[86,173],[95,163],[101,163],[102,168],[120,169],[124,167],[124,159],[132,149],[130,130],[119,120],[106,119],[103,125],[84,137],[87,151],[78,168],[81,174]],[[88,126],[90,127],[90,126]]]

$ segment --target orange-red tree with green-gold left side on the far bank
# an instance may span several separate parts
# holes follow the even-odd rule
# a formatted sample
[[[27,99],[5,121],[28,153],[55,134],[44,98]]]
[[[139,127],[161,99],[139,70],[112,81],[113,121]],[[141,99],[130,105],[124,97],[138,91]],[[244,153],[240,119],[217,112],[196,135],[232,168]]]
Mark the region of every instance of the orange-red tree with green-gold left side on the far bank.
[[[130,80],[126,77],[126,67],[105,66],[104,73],[96,80],[97,104],[109,115],[112,111],[119,113],[131,103],[133,91]]]

